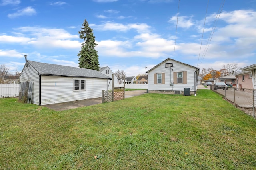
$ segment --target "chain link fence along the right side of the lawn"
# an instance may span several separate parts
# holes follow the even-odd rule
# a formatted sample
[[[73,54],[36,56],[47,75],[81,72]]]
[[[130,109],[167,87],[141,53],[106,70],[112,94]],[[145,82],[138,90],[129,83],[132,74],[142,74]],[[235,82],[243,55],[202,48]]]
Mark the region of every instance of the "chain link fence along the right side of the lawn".
[[[255,89],[215,86],[210,89],[255,118]]]

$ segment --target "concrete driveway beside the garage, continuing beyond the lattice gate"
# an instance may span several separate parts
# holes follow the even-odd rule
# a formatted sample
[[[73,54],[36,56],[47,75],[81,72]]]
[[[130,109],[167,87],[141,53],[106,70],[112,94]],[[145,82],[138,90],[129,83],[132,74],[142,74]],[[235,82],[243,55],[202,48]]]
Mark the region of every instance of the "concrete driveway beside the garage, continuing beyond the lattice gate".
[[[134,96],[139,96],[146,93],[146,91],[147,90],[126,91],[124,94],[124,97],[130,98]],[[62,111],[62,110],[75,109],[78,107],[90,106],[90,105],[95,105],[100,103],[102,103],[102,98],[92,98],[92,99],[76,100],[72,102],[64,102],[64,103],[58,103],[58,104],[48,104],[44,106],[56,111]]]

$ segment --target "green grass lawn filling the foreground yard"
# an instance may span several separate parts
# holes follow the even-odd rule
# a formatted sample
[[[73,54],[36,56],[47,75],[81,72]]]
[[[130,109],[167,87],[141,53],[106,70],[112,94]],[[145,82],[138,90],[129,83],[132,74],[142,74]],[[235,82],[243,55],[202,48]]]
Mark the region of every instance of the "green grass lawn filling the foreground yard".
[[[256,169],[256,120],[211,90],[53,111],[0,99],[0,169]]]

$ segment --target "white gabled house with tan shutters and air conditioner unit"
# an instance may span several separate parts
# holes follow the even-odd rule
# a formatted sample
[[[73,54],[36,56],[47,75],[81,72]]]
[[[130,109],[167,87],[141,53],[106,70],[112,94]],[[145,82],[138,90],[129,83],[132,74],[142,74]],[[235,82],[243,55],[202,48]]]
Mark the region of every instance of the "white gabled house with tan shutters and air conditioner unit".
[[[147,73],[149,93],[196,94],[197,67],[168,58]]]

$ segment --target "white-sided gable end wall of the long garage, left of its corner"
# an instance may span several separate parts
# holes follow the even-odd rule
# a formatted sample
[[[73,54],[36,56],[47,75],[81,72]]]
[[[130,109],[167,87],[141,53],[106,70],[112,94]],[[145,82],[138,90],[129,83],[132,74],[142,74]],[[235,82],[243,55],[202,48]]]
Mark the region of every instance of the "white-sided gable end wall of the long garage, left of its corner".
[[[32,104],[39,105],[39,76],[38,72],[28,63],[28,67],[24,67],[20,75],[20,82],[33,82],[32,88]]]

